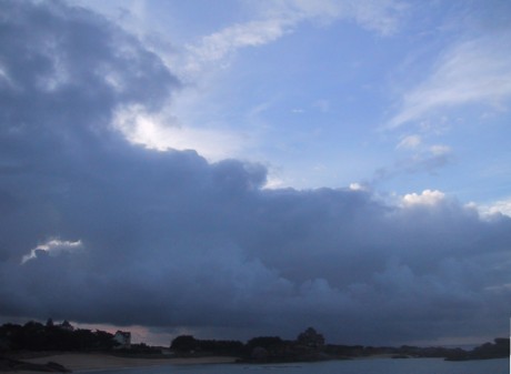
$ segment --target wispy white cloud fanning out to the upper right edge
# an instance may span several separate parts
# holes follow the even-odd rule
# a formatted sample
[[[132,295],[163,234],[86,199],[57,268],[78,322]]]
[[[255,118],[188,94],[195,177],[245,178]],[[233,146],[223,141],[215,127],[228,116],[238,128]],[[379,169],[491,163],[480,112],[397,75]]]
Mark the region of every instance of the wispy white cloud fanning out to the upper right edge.
[[[509,33],[465,41],[451,48],[424,82],[407,93],[388,127],[422,120],[437,110],[469,103],[500,108],[511,97]]]

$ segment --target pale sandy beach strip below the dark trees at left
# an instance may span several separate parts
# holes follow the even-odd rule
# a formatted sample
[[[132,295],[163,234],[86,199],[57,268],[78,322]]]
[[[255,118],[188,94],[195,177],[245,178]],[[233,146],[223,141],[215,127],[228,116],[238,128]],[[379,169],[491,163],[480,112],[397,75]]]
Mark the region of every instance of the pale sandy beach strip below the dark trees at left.
[[[192,357],[192,358],[130,358],[118,357],[107,354],[89,354],[89,353],[66,353],[53,356],[37,357],[23,360],[34,364],[46,364],[48,362],[59,363],[73,372],[89,372],[108,368],[124,368],[124,367],[142,367],[156,365],[192,365],[192,364],[222,364],[233,363],[237,357]],[[2,374],[30,374],[36,372],[18,371],[2,372]]]

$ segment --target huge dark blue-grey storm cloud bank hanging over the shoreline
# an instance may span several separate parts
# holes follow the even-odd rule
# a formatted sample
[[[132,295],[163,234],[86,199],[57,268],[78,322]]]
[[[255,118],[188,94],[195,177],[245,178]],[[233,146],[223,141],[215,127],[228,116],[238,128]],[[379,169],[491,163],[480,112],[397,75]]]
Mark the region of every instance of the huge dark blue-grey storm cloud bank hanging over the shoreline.
[[[262,190],[260,165],[133,146],[110,123],[179,89],[160,59],[89,11],[1,6],[3,315],[352,343],[508,331],[509,218],[434,192]]]

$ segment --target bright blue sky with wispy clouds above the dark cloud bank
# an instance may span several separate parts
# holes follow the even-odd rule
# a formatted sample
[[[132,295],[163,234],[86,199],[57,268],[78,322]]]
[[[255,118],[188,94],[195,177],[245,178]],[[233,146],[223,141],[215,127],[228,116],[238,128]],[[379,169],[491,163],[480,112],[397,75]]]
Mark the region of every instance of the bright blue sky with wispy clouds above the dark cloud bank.
[[[509,199],[505,1],[82,4],[186,82],[139,142],[262,162],[272,188]]]

